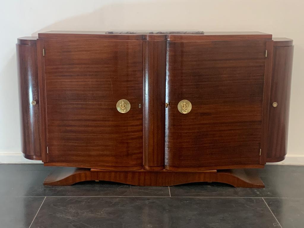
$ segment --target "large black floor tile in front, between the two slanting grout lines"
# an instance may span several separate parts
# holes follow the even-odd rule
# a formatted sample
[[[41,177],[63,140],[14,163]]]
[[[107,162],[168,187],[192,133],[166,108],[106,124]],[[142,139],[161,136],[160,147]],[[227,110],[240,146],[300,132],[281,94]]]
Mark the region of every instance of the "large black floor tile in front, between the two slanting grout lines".
[[[263,199],[47,197],[31,228],[279,227]]]

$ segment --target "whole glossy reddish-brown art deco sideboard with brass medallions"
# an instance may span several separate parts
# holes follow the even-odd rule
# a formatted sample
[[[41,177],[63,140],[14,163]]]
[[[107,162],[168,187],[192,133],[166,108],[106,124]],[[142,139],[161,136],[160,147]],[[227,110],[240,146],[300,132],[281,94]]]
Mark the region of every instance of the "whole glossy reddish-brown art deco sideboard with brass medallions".
[[[286,155],[293,45],[260,32],[50,31],[18,39],[24,157],[45,185],[261,188]]]

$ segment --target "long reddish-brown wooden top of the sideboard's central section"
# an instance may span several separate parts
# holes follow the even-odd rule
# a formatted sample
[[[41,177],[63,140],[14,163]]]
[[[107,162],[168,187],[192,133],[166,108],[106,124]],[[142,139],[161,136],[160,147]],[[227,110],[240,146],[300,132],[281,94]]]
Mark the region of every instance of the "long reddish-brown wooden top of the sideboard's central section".
[[[261,32],[203,32],[185,31],[48,31],[40,39],[100,39],[100,40],[271,40],[272,35]]]

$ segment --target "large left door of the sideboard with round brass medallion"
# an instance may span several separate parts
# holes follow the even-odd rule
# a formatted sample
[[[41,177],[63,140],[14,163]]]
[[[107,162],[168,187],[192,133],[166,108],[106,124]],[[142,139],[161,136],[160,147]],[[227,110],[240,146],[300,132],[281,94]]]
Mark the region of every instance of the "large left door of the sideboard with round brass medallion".
[[[39,40],[48,165],[142,168],[142,41]],[[121,113],[116,108],[128,106]]]

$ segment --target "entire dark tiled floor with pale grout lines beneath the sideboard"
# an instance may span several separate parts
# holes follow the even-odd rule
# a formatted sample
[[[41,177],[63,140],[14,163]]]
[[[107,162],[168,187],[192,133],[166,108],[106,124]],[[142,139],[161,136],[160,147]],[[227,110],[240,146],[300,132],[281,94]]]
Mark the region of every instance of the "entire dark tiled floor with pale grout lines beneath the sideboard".
[[[0,164],[1,228],[304,227],[304,166],[266,165],[264,189],[220,183],[43,186],[54,168]]]

